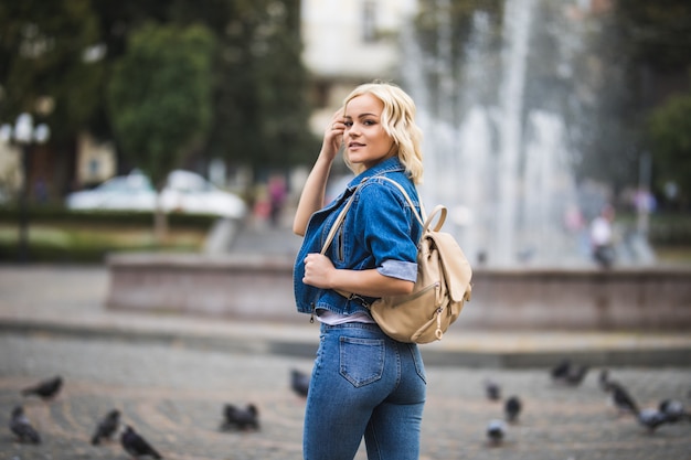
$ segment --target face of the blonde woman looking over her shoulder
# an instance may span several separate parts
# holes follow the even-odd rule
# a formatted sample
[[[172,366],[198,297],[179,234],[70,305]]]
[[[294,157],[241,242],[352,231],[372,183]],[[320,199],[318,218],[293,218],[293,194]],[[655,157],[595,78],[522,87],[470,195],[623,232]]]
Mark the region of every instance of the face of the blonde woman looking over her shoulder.
[[[381,124],[384,103],[371,94],[352,98],[346,105],[343,143],[348,160],[370,169],[395,154],[394,141]]]

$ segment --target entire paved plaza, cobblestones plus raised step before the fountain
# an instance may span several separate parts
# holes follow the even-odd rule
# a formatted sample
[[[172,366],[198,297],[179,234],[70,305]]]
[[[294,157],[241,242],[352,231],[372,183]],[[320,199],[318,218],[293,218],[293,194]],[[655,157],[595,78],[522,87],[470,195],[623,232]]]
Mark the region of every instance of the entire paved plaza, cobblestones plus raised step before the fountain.
[[[305,400],[290,391],[289,374],[311,370],[316,325],[114,312],[104,307],[107,286],[104,266],[0,266],[0,459],[126,460],[117,440],[89,443],[113,408],[166,459],[301,459]],[[619,416],[597,382],[607,367],[641,407],[674,398],[690,410],[688,333],[449,332],[423,354],[422,460],[691,459],[691,422],[649,434]],[[551,382],[560,356],[592,365],[578,387]],[[20,394],[54,375],[65,381],[54,400]],[[503,399],[487,399],[487,378],[503,399],[515,395],[523,405],[496,447],[485,431],[503,417]],[[219,430],[225,404],[249,403],[259,410],[258,431]],[[17,405],[40,446],[12,437]],[[364,459],[361,447],[357,460]]]

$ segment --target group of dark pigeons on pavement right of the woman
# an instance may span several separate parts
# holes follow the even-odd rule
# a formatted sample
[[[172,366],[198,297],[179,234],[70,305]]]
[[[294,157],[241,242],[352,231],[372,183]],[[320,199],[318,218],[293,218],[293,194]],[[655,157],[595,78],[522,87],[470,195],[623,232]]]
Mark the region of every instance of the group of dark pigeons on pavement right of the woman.
[[[563,360],[550,370],[550,378],[556,385],[577,387],[581,385],[589,371],[587,365],[576,365],[571,360]],[[619,415],[631,415],[645,430],[652,434],[660,426],[691,421],[691,413],[688,413],[683,404],[678,399],[662,399],[658,407],[640,408],[626,387],[609,377],[609,371],[600,370],[598,385],[608,395],[608,400]],[[501,399],[501,387],[498,383],[486,379],[485,392],[490,400]],[[518,396],[506,399],[503,410],[504,418],[495,418],[487,425],[487,439],[490,446],[500,446],[507,436],[507,424],[514,424],[519,419],[522,409]]]

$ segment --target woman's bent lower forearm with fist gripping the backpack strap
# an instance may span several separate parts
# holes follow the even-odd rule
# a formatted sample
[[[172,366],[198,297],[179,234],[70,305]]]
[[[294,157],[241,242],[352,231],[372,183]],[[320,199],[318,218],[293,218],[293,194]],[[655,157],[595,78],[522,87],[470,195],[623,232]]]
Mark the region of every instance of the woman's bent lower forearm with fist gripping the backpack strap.
[[[305,258],[302,282],[321,289],[338,289],[361,296],[403,296],[413,291],[414,282],[387,277],[375,268],[368,270],[337,269],[327,256],[309,254]]]

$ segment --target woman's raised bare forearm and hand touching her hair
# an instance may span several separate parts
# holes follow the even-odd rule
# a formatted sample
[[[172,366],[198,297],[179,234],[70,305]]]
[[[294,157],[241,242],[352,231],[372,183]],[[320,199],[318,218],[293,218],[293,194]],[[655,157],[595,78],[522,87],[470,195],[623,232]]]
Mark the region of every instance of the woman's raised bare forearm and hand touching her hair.
[[[298,207],[293,221],[293,232],[296,235],[305,236],[307,224],[313,213],[321,210],[325,205],[323,199],[327,191],[327,182],[331,172],[331,164],[336,158],[343,139],[343,110],[339,109],[331,117],[331,122],[327,127],[323,135],[323,142],[317,161],[312,167],[305,188],[298,201]]]

